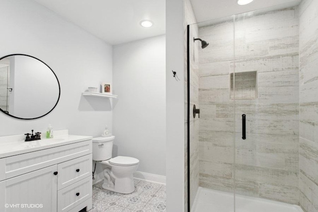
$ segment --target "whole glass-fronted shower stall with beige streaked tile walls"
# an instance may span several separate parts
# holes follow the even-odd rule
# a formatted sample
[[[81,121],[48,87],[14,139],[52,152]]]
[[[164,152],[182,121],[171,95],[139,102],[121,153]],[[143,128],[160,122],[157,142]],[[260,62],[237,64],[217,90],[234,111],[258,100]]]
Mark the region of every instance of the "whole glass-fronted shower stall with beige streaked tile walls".
[[[189,212],[318,212],[317,8],[188,25]]]

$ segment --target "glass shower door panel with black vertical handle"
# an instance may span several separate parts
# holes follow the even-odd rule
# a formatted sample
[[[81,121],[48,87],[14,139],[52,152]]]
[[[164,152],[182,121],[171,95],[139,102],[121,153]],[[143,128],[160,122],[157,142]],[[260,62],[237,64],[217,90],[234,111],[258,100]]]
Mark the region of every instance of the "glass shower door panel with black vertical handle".
[[[297,6],[235,15],[236,212],[298,205],[298,23]]]

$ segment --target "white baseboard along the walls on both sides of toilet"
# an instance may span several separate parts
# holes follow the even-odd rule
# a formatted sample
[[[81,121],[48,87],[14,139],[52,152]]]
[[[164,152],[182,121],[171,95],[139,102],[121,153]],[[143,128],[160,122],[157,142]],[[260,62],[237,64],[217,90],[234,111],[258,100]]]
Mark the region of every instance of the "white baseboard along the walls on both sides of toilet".
[[[104,179],[103,172],[100,172],[98,174],[94,174],[95,179],[93,180],[93,185],[102,181]],[[145,172],[136,171],[134,173],[134,178],[139,180],[146,180],[150,182],[165,184],[165,176],[156,175],[156,174],[149,174]]]

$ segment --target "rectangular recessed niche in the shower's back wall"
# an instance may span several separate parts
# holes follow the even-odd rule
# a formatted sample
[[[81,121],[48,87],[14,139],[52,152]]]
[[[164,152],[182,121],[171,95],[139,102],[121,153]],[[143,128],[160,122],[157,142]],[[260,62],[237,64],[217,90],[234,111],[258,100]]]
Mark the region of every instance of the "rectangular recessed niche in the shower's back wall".
[[[257,98],[257,71],[231,73],[230,78],[231,99]]]

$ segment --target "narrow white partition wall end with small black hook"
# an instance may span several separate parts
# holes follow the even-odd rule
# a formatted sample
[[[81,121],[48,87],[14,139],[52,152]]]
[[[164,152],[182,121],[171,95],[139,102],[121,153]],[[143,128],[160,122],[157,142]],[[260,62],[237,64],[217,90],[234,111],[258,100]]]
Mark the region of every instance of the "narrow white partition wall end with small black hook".
[[[166,0],[166,209],[184,211],[184,27],[183,0]],[[172,77],[176,71],[180,81]]]

